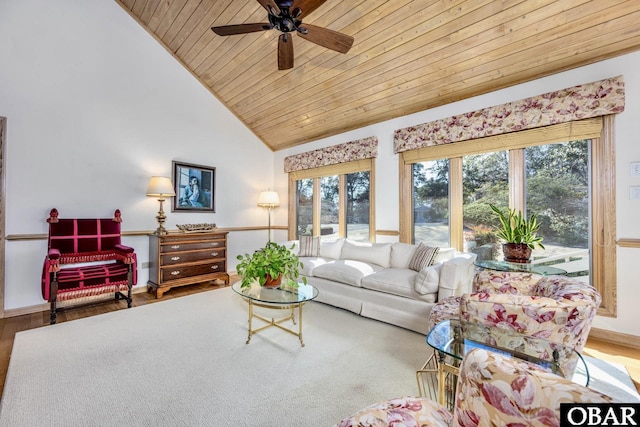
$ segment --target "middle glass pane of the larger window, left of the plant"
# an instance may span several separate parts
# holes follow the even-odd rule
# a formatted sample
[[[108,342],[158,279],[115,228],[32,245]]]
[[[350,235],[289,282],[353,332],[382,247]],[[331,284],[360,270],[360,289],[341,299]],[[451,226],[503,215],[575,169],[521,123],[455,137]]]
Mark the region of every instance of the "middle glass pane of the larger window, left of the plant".
[[[462,159],[464,250],[478,260],[502,259],[495,235],[499,225],[489,204],[509,206],[509,157],[507,151],[465,156]]]

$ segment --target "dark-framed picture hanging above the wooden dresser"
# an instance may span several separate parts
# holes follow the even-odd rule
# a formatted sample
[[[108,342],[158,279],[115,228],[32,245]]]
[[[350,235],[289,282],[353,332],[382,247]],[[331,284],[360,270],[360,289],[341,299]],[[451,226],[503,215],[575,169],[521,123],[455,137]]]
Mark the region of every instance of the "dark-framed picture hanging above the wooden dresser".
[[[190,163],[173,164],[173,212],[215,212],[216,168]]]

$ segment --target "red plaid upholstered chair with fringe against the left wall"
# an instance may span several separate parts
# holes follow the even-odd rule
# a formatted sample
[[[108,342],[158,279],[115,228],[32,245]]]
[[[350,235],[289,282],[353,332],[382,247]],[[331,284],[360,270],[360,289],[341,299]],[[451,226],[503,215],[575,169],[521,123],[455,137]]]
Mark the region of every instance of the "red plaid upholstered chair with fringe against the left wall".
[[[133,248],[120,243],[120,210],[114,218],[59,219],[57,209],[51,209],[47,222],[42,297],[51,303],[51,324],[56,323],[58,301],[114,293],[131,307],[137,258]]]

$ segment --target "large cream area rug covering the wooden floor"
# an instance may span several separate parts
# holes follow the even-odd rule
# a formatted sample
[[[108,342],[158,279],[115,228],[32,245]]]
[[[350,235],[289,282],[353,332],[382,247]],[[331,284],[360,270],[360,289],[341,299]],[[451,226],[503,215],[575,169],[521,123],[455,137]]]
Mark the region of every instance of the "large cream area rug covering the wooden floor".
[[[247,310],[224,288],[20,332],[0,426],[331,426],[418,392],[421,334],[312,302],[305,347],[245,344]]]

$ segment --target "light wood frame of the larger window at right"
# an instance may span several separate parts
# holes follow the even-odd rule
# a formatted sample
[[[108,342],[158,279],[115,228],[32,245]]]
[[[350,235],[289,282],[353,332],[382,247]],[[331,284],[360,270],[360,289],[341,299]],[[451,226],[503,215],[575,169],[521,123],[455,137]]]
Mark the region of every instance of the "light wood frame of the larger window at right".
[[[557,142],[591,140],[591,283],[602,297],[598,315],[616,317],[616,211],[614,116],[566,122],[485,138],[460,141],[400,153],[400,241],[411,243],[413,226],[413,163],[449,159],[451,246],[464,247],[462,157],[491,151],[509,152],[509,205],[524,209],[524,148]]]

